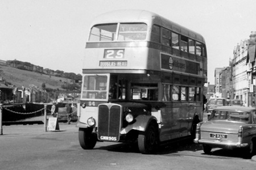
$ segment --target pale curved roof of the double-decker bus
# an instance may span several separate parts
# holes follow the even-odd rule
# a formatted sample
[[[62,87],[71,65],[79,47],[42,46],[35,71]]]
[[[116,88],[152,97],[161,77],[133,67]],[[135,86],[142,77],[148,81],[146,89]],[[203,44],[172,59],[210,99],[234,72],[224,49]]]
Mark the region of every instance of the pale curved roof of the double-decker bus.
[[[93,20],[92,27],[96,24],[119,22],[143,22],[146,24],[162,25],[162,27],[169,28],[176,33],[180,33],[181,35],[191,37],[192,39],[205,43],[204,37],[201,36],[199,33],[196,33],[179,24],[171,22],[170,20],[163,18],[162,16],[155,14],[154,12],[144,10],[117,10],[112,12],[106,12],[105,14],[97,16]]]

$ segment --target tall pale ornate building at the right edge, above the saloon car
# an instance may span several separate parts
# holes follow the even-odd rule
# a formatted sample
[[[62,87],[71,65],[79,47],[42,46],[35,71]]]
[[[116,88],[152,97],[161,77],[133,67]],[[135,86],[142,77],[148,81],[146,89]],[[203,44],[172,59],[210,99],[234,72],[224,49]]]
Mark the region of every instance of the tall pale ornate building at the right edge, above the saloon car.
[[[233,53],[233,98],[243,100],[245,106],[254,105],[255,37],[256,32],[251,32],[250,39],[241,40]]]

